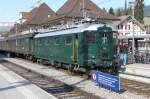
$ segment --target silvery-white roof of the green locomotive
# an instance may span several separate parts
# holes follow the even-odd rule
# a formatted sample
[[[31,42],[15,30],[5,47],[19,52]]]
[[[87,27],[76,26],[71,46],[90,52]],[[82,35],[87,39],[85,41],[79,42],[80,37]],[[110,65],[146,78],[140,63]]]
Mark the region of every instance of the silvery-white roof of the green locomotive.
[[[99,27],[103,27],[106,24],[93,24],[93,25],[79,25],[78,27],[68,28],[63,30],[56,30],[51,32],[38,33],[35,35],[35,38],[48,37],[48,36],[56,36],[56,35],[65,35],[65,34],[75,34],[82,33],[84,31],[97,31]],[[112,31],[117,31],[110,25],[106,25],[106,27],[112,28]]]

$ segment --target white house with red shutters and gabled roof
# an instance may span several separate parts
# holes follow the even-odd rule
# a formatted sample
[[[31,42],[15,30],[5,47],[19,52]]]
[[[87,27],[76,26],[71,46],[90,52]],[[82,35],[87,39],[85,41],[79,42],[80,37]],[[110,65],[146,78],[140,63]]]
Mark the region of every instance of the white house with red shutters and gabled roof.
[[[140,24],[132,16],[121,16],[120,21],[116,21],[113,25],[118,29],[119,36],[145,35],[146,31],[142,24]],[[133,21],[134,20],[134,21]]]

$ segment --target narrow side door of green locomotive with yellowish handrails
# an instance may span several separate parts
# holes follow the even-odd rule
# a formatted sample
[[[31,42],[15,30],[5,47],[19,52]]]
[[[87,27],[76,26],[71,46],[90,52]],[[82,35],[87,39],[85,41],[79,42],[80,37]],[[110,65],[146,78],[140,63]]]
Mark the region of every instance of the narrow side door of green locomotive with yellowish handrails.
[[[79,48],[78,34],[75,34],[72,45],[73,45],[73,62],[76,63],[78,61],[78,48]]]

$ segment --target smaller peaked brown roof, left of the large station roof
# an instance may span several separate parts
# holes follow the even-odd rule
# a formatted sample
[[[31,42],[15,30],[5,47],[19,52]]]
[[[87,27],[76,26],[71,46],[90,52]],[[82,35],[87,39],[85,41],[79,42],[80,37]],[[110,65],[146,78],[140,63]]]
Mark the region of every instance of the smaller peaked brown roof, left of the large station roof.
[[[55,12],[45,3],[42,3],[39,7],[32,9],[30,13],[32,15],[26,24],[38,25],[41,24],[45,19],[55,16]]]

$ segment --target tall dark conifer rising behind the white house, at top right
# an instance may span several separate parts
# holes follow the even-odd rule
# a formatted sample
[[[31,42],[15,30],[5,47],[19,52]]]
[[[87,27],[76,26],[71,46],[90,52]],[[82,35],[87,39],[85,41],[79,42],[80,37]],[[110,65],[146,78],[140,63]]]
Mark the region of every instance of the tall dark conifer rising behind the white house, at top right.
[[[136,0],[134,15],[135,15],[135,19],[137,19],[141,23],[143,23],[143,17],[144,17],[143,8],[144,8],[144,0]]]

